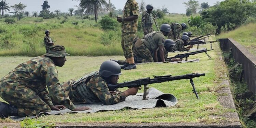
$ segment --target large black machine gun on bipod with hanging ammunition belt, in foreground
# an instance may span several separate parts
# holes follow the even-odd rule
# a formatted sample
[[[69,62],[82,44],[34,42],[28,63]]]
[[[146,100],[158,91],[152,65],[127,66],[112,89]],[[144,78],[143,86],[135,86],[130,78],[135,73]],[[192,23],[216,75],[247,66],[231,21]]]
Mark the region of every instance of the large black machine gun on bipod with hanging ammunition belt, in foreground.
[[[144,92],[143,92],[143,100],[148,100],[148,93],[149,93],[149,84],[154,84],[154,83],[162,83],[162,82],[167,82],[167,81],[175,81],[175,80],[183,80],[183,79],[190,79],[190,83],[193,87],[193,93],[196,94],[197,99],[199,99],[194,81],[192,80],[195,77],[200,77],[204,76],[205,74],[199,74],[199,73],[191,73],[191,74],[186,74],[186,75],[179,75],[179,76],[171,76],[171,75],[165,75],[165,76],[154,76],[153,79],[150,79],[150,77],[135,80],[135,81],[129,81],[129,82],[124,82],[124,83],[119,83],[119,84],[109,84],[109,90],[114,91],[116,88],[123,88],[123,87],[141,87],[144,85]]]

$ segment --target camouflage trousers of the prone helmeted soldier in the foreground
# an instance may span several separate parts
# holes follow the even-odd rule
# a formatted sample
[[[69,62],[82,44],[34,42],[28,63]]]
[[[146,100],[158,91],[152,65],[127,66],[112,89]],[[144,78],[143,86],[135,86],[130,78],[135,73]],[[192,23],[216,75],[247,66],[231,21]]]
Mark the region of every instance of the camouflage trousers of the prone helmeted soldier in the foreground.
[[[65,83],[60,84],[61,88],[69,95],[69,99],[74,103],[74,104],[82,104],[86,103],[85,100],[82,98],[78,97],[75,93],[75,90],[72,88],[73,84],[75,83],[74,80],[67,81]],[[54,102],[55,105],[61,104],[61,103],[56,103]]]

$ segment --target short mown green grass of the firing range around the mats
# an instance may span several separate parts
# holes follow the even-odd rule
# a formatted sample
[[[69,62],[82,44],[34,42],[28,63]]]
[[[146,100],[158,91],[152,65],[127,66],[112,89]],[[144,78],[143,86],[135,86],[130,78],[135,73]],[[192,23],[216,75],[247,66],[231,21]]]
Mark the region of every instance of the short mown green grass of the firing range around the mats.
[[[210,45],[203,45],[201,48]],[[210,51],[209,55],[212,60],[204,54],[197,54],[189,57],[189,59],[200,58],[200,62],[195,63],[149,63],[138,65],[137,69],[124,71],[120,76],[119,82],[137,80],[144,77],[153,77],[153,75],[183,75],[187,73],[205,73],[194,79],[196,89],[200,100],[196,99],[192,93],[192,87],[189,80],[179,80],[151,84],[163,93],[171,93],[176,96],[178,103],[170,108],[153,108],[143,110],[123,109],[117,111],[106,111],[91,114],[63,114],[63,115],[47,115],[38,119],[47,123],[88,123],[88,122],[110,122],[110,123],[148,123],[148,122],[190,122],[190,123],[221,123],[227,118],[211,118],[211,115],[222,115],[225,112],[235,112],[233,109],[223,108],[217,101],[218,94],[215,90],[219,88],[222,82],[222,74],[226,73],[225,63],[219,60],[220,49],[217,43],[213,44],[214,51]],[[170,56],[175,54],[170,54]],[[0,66],[4,67],[0,70],[0,77],[3,77],[11,71],[19,63],[31,57],[0,57]],[[123,56],[101,56],[101,57],[67,57],[65,66],[58,67],[59,79],[61,82],[75,78],[78,79],[85,73],[98,70],[100,64],[109,59],[124,59]],[[125,90],[122,88],[121,90]],[[143,89],[139,92],[143,92]],[[1,100],[1,99],[0,99]],[[6,122],[10,121],[5,119]],[[5,122],[2,120],[2,122]]]

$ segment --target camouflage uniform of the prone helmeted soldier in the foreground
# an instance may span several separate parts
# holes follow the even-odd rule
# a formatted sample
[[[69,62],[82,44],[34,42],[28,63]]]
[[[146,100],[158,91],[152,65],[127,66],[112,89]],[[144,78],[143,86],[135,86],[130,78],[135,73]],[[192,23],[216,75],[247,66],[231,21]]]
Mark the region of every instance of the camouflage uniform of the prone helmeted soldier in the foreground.
[[[107,82],[99,75],[99,72],[92,72],[77,81],[68,81],[62,85],[72,102],[74,103],[95,103],[102,102],[106,105],[116,104],[125,101],[124,93],[111,95]]]

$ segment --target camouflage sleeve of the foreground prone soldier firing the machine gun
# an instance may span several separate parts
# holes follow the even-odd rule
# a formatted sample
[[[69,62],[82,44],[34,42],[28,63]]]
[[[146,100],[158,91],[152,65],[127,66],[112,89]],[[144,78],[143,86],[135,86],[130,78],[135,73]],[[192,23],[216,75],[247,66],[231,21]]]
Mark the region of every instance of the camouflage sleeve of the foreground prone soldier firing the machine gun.
[[[93,83],[90,83],[90,82],[88,87],[104,104],[112,105],[112,104],[119,103],[121,101],[125,101],[125,98],[126,98],[125,93],[117,93],[115,95],[112,95],[105,81],[98,80]]]

